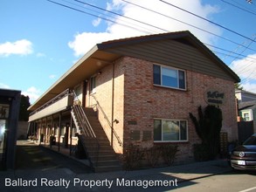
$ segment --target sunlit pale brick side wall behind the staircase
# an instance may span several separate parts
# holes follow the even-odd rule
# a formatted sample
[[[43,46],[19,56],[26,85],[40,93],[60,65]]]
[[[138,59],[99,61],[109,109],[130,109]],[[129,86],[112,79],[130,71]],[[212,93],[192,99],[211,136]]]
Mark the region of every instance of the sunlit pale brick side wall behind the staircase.
[[[123,100],[124,100],[124,67],[117,61],[118,64],[111,64],[104,67],[100,72],[100,75],[96,77],[96,89],[95,93],[90,94],[87,90],[86,106],[93,106],[96,98],[102,109],[98,110],[99,120],[101,126],[104,128],[107,134],[108,140],[111,141],[112,133],[111,127],[113,120],[118,120],[118,123],[114,122],[114,132],[123,141]],[[113,79],[114,77],[114,79]],[[89,88],[89,86],[87,86]],[[93,95],[93,96],[92,96]],[[113,112],[112,112],[113,109]],[[108,120],[108,121],[107,121]],[[117,141],[113,134],[113,146],[116,153],[122,154],[122,146]]]

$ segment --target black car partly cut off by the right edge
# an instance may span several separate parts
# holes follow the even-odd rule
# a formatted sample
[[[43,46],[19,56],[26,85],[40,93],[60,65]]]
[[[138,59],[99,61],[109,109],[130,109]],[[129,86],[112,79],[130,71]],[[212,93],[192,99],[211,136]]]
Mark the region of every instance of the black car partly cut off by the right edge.
[[[230,162],[235,169],[256,170],[256,134],[232,150]]]

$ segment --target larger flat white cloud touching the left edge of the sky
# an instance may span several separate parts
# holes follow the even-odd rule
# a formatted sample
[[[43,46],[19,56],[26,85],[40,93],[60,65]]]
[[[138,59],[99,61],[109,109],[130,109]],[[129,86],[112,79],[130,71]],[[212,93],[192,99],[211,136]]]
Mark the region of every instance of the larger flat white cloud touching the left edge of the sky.
[[[0,44],[0,56],[8,57],[14,55],[28,55],[33,52],[32,43],[26,39],[18,40],[16,42],[6,42]]]

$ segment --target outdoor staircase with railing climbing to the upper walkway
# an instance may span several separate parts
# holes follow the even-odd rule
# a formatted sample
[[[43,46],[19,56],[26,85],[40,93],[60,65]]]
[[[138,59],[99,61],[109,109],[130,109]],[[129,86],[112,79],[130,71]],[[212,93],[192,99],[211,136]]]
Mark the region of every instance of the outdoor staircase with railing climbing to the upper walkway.
[[[93,108],[74,105],[72,110],[74,124],[79,139],[94,172],[121,170],[121,163],[100,125],[98,115]]]

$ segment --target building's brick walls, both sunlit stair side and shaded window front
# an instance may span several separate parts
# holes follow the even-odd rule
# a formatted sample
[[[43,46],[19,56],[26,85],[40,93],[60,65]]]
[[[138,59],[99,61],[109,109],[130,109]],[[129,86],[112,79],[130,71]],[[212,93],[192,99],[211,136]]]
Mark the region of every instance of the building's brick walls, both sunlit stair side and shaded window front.
[[[193,144],[200,142],[189,113],[197,116],[197,107],[207,106],[204,94],[211,88],[225,93],[224,104],[220,106],[223,112],[222,132],[228,133],[229,141],[234,141],[238,135],[232,81],[186,70],[185,91],[154,86],[152,62],[123,57],[102,69],[97,76],[94,96],[104,109],[108,120],[119,121],[118,124],[113,124],[115,132],[123,142],[123,146],[120,146],[114,139],[114,149],[117,153],[122,154],[130,143],[152,147],[155,118],[187,120],[188,141],[176,142],[179,146],[176,161],[187,162],[193,160]],[[95,103],[92,97],[87,96],[86,100],[86,106]],[[107,136],[111,140],[106,117],[100,111],[99,117],[102,126],[107,127]]]

